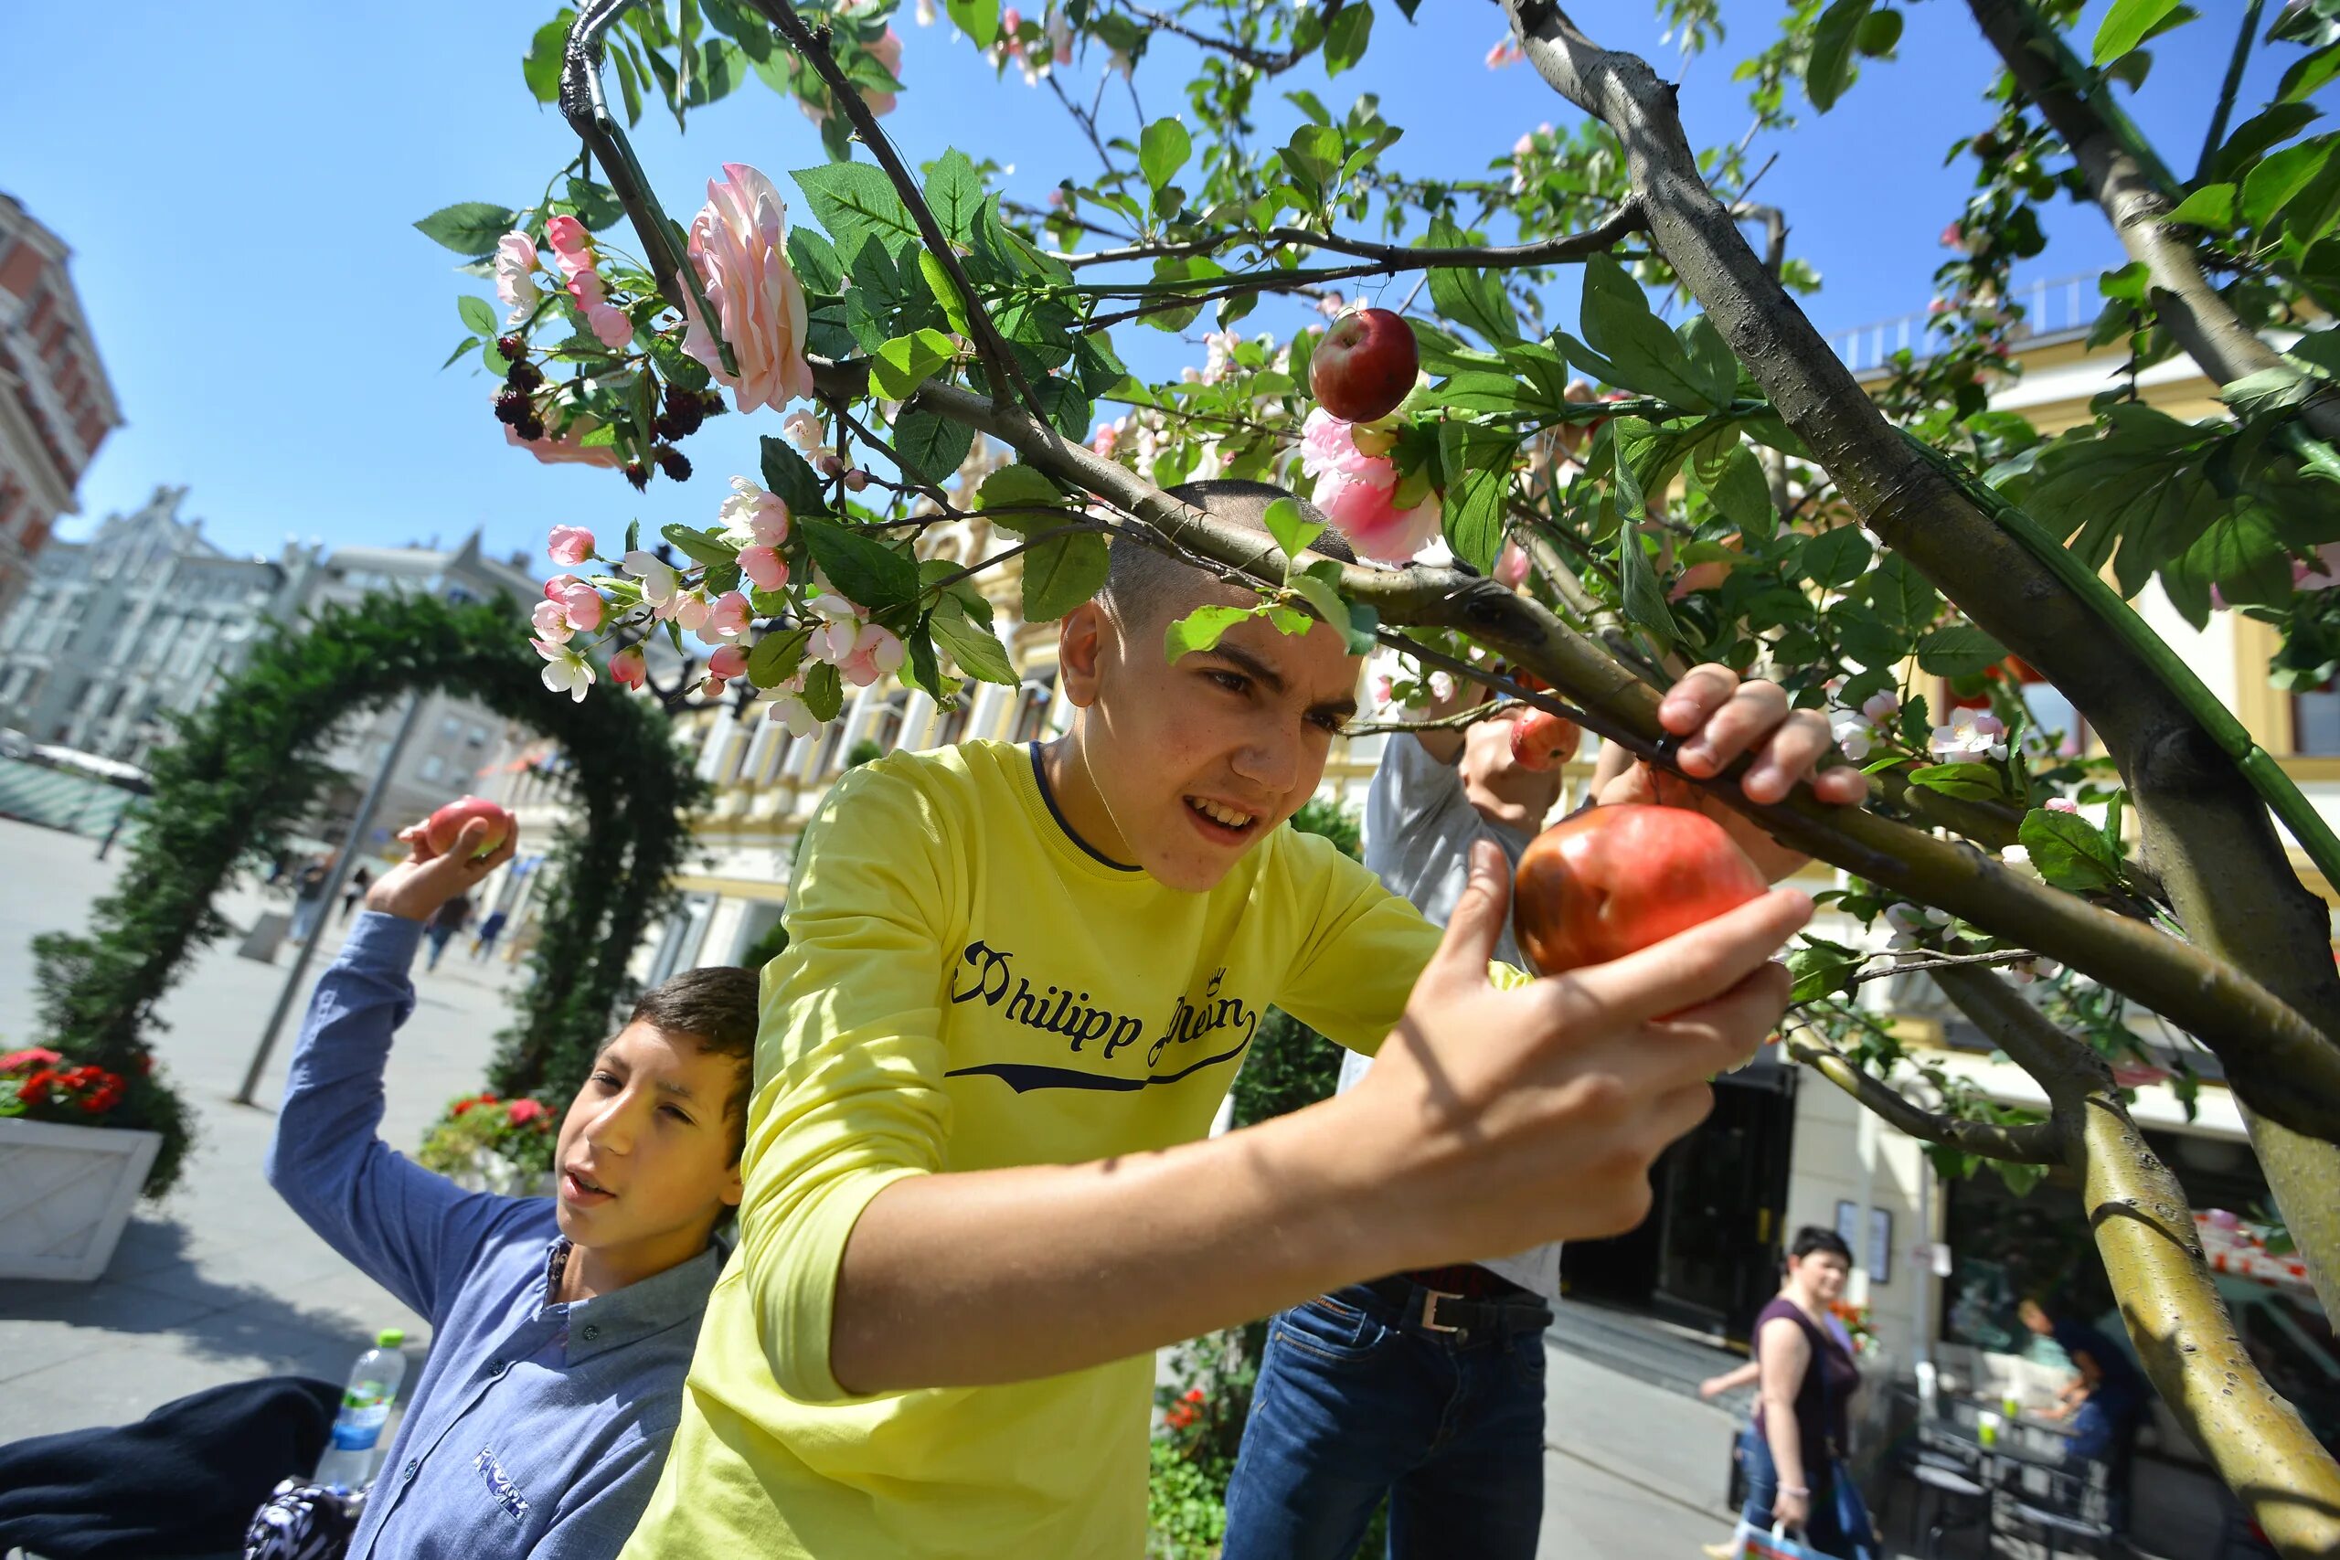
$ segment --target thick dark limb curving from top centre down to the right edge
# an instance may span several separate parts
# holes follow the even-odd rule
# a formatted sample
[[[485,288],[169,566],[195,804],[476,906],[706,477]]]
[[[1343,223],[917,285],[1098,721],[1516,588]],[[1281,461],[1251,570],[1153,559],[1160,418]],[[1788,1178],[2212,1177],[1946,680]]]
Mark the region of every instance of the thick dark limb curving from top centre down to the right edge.
[[[2333,978],[2324,903],[2300,886],[2242,772],[2132,646],[2111,634],[2043,559],[1994,524],[1947,472],[1909,449],[1863,395],[1844,363],[1748,248],[1729,210],[1706,189],[1675,115],[1673,89],[1640,58],[1589,40],[1547,0],[1505,0],[1505,9],[1542,77],[1619,138],[1654,246],[1739,360],[1762,381],[1781,419],[1879,538],[1942,587],[1977,627],[2047,674],[2087,716],[2129,784],[2139,819],[2148,826],[2148,865],[2169,886],[2188,933],[2246,966],[2225,966],[2202,947],[2186,947],[2132,924],[2132,933],[2143,940],[2122,940],[2129,954],[2090,968],[2090,961],[2071,959],[2047,936],[2019,931],[2005,914],[2010,905],[1996,903],[1996,886],[1984,891],[1994,903],[1970,919],[2195,1029],[2218,1050],[2237,1095],[2270,1116],[2274,1109],[2267,1106],[2289,1111],[2291,1102],[2284,1097],[2298,1088],[2293,1064],[2319,1076],[2340,1067],[2340,1045],[2331,1038],[2340,1036],[2340,980]],[[1900,844],[1893,849],[1900,851]],[[1814,854],[1844,865],[1832,849]],[[1942,872],[1959,875],[1952,861],[1942,863]],[[1919,865],[1912,877],[1947,886],[1930,865]],[[1912,891],[1912,898],[1968,914],[1926,891]],[[2111,973],[2127,957],[2150,959],[2146,950],[2153,945],[2186,947],[2183,957],[2193,968],[2225,971],[2221,978],[2253,992],[2251,1003],[2265,1003],[2270,1015],[2286,1015],[2282,1022],[2289,1038],[2270,1048],[2265,1041],[2274,1031],[2237,1024],[2232,1017],[2214,1020],[2197,999],[2160,982],[2162,994],[2148,996],[2134,980],[2146,975],[2141,968]],[[2090,959],[2108,952],[2092,950]],[[2164,999],[2183,1001],[2193,1017],[2162,1008]],[[2277,1050],[2289,1052],[2291,1062],[2279,1062]],[[2317,1085],[2317,1092],[2324,1088]],[[2324,1113],[2321,1104],[2317,1113]],[[2307,1132],[2335,1137],[2321,1127]]]

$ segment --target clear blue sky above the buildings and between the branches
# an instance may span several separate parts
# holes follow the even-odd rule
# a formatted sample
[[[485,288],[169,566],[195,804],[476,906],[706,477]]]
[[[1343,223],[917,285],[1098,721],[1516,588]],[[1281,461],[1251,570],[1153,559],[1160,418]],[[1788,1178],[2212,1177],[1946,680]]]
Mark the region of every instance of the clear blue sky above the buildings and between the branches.
[[[615,536],[629,517],[653,531],[714,517],[730,472],[753,470],[753,437],[777,419],[711,421],[686,442],[697,475],[653,482],[636,498],[611,472],[543,468],[508,449],[487,379],[438,367],[463,337],[454,295],[477,283],[449,271],[452,255],[412,220],[461,199],[526,203],[569,159],[566,126],[519,82],[519,54],[552,9],[140,0],[105,12],[101,30],[77,7],[16,7],[12,56],[35,68],[12,73],[0,94],[0,147],[12,152],[0,189],[73,246],[75,283],[129,416],[84,477],[84,512],[66,536],[143,503],[159,482],[190,484],[190,512],[222,545],[262,552],[288,536],[452,543],[482,526],[491,550],[529,550],[543,568],[555,522]],[[913,161],[964,145],[1011,164],[1009,189],[1027,201],[1062,173],[1095,171],[1053,94],[1013,73],[994,82],[948,23],[917,28],[908,9],[906,0],[896,19],[908,91],[887,126]],[[1390,157],[1409,173],[1474,173],[1523,129],[1572,117],[1528,68],[1484,68],[1500,35],[1493,7],[1425,0],[1413,28],[1395,7],[1378,9],[1360,70],[1327,84],[1310,61],[1278,87],[1308,87],[1336,108],[1378,91],[1388,119],[1406,126]],[[2181,171],[2195,161],[2232,42],[2230,7],[2204,9],[2221,19],[2164,40],[2134,105]],[[1587,7],[1582,19],[1608,44],[1643,49],[1664,75],[1685,73],[1692,143],[1711,145],[1746,131],[1729,70],[1769,40],[1781,5],[1725,0],[1725,16],[1729,37],[1687,73],[1659,44],[1647,7]],[[1163,40],[1140,70],[1149,115],[1182,108],[1182,49]],[[2291,54],[2260,54],[2242,112],[2265,101]],[[1067,84],[1093,84],[1095,68],[1074,65]],[[1757,159],[1778,161],[1757,196],[1788,213],[1795,253],[1825,278],[1806,302],[1823,330],[1926,306],[1942,260],[1935,236],[1970,182],[1963,166],[1942,166],[1942,152],[1987,122],[1987,82],[1989,56],[1966,9],[1912,7],[1895,63],[1867,65],[1835,112],[1760,147]],[[1128,96],[1112,98],[1121,119],[1109,108],[1109,129],[1128,131]],[[1282,133],[1282,112],[1264,110],[1264,133]],[[662,112],[646,117],[636,150],[686,220],[721,161],[782,178],[821,157],[812,126],[760,82],[693,115],[688,136]],[[2050,250],[2022,276],[2118,257],[2092,208],[2057,206],[2047,227]],[[1245,330],[1282,334],[1289,318],[1261,309]],[[1158,332],[1126,327],[1116,339],[1142,370],[1200,363],[1200,348]]]

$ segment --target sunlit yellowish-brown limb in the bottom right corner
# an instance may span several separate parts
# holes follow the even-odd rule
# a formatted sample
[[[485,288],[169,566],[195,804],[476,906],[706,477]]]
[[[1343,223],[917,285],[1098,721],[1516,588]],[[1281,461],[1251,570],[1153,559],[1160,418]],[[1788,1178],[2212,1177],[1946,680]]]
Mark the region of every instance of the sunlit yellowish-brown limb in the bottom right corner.
[[[2146,1146],[2104,1059],[1998,975],[1935,971],[1933,980],[2047,1090],[2064,1123],[2064,1162],[2083,1179],[2097,1254],[2155,1392],[2284,1555],[2340,1553],[2340,1464],[2235,1335],[2186,1188]]]

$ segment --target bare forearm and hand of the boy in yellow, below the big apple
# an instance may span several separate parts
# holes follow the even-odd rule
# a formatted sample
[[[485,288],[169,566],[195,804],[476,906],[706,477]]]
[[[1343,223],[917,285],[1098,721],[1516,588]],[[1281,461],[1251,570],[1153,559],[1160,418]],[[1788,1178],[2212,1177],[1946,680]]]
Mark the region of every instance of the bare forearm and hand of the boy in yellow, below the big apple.
[[[1647,1167],[1785,1003],[1776,891],[1610,966],[1500,992],[1502,854],[1367,1081],[1179,1148],[910,1174],[859,1207],[828,1312],[842,1394],[1030,1380],[1397,1268],[1629,1228]],[[1659,1015],[1671,1017],[1659,1017]],[[782,1375],[782,1387],[791,1380]]]

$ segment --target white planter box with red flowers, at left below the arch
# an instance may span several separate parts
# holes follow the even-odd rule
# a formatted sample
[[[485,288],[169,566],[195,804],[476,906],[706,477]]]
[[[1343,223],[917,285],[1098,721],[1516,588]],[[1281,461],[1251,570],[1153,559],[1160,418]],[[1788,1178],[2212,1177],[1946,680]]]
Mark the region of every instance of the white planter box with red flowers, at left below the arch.
[[[105,1272],[157,1148],[159,1132],[0,1118],[0,1277]]]

